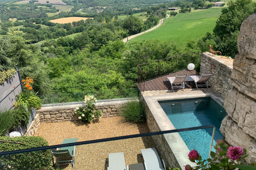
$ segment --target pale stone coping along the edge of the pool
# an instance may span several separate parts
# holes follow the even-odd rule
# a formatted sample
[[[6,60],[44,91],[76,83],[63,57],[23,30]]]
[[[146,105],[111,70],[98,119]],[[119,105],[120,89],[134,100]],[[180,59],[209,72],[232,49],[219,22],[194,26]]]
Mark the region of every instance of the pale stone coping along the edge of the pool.
[[[163,91],[162,94],[151,95],[151,96],[143,95],[142,93],[142,97],[144,98],[144,101],[146,102],[146,105],[149,108],[153,116],[153,119],[157,123],[157,126],[159,127],[160,131],[174,130],[175,127],[173,126],[172,122],[169,120],[169,118],[163,111],[158,101],[200,98],[200,97],[207,97],[207,96],[210,96],[221,106],[224,103],[222,97],[219,96],[217,92],[212,91],[210,89],[207,91],[196,90],[196,91],[189,91],[189,92],[183,92],[183,93]],[[185,170],[185,165],[196,166],[196,163],[192,163],[189,161],[188,159],[189,149],[178,133],[164,134],[163,137],[165,138],[165,141],[168,143],[171,153],[173,153],[176,159],[175,161],[177,161],[178,165],[182,170]]]

